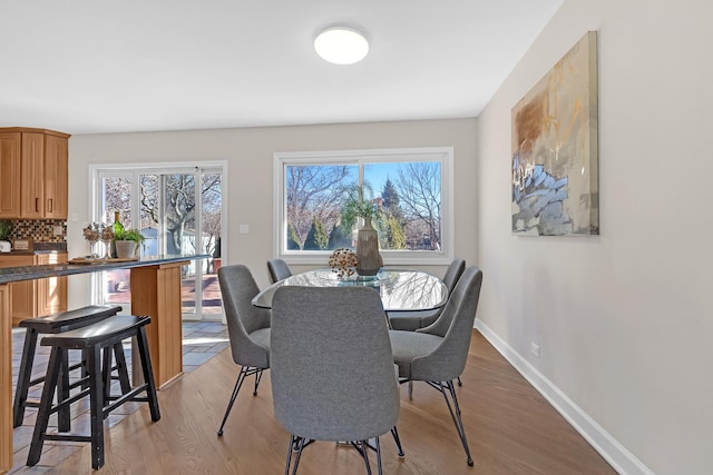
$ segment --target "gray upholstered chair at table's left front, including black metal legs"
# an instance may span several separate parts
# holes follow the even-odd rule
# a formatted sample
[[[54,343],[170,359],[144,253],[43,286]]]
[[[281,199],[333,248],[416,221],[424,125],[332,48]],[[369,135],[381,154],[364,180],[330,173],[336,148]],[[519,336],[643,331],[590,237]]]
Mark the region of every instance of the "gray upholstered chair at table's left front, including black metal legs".
[[[253,306],[252,300],[260,293],[260,288],[247,267],[242,265],[221,267],[218,283],[223,295],[233,360],[241,365],[231,400],[218,429],[218,436],[222,436],[227,416],[245,378],[255,375],[253,389],[253,396],[255,396],[263,370],[270,368],[270,310]]]

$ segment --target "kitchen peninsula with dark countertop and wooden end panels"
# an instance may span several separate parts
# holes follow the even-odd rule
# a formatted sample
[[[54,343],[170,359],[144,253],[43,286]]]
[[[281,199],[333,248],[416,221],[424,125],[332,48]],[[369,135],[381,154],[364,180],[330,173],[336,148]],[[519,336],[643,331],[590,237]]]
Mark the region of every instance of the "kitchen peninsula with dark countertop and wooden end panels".
[[[72,259],[66,264],[0,268],[0,474],[12,468],[12,283],[129,269],[131,313],[152,317],[146,336],[154,379],[160,388],[183,374],[180,268],[191,260],[209,257],[163,255],[129,260]]]

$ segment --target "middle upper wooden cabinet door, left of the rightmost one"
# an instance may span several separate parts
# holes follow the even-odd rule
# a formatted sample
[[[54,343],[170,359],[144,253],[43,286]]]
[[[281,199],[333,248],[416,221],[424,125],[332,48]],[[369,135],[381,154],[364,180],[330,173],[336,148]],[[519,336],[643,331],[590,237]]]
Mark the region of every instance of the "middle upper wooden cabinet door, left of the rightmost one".
[[[22,132],[20,217],[41,218],[45,205],[45,133]]]

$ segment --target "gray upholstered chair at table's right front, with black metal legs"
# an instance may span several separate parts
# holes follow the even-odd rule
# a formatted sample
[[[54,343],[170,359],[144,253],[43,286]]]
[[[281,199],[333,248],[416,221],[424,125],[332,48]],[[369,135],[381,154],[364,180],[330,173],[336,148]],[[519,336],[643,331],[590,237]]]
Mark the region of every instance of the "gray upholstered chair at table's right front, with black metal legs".
[[[389,331],[401,383],[422,380],[443,395],[470,466],[472,457],[453,379],[466,368],[481,285],[482,271],[477,267],[467,268],[432,325],[416,331]]]

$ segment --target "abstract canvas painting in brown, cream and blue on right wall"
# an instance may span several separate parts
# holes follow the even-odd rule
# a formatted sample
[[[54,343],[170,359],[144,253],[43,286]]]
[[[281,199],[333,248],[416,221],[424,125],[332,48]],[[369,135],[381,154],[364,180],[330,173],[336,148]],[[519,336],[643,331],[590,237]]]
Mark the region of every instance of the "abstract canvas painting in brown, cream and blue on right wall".
[[[597,33],[512,108],[512,232],[599,234]]]

